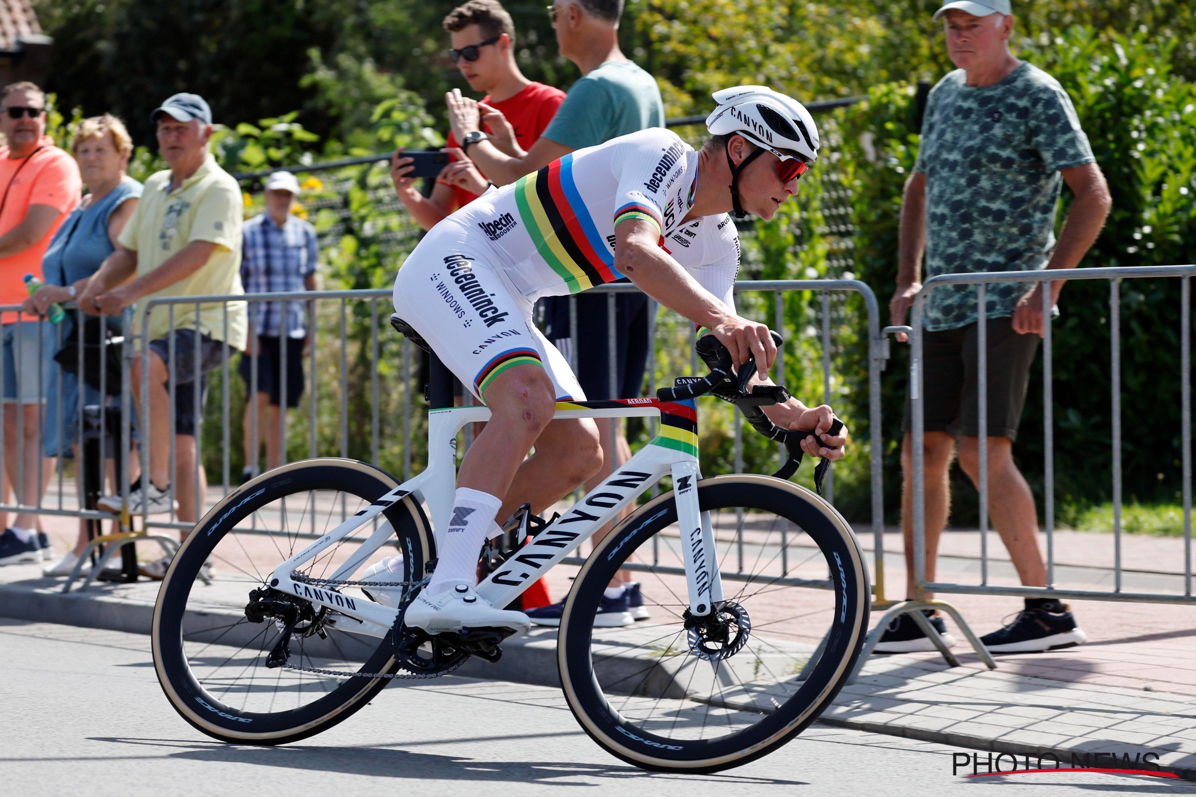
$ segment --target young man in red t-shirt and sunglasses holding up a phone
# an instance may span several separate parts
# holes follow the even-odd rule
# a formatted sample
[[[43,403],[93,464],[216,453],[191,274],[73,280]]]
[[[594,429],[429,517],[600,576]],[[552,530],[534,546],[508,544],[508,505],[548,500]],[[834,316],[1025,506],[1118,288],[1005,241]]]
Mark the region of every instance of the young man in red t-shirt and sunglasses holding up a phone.
[[[445,17],[444,27],[452,45],[448,55],[462,76],[474,91],[486,92],[482,98],[486,137],[511,157],[529,149],[553,121],[565,92],[527,80],[519,72],[511,14],[498,0],[469,0]],[[459,142],[448,134],[445,151],[452,154],[453,163],[437,177],[428,197],[420,194],[413,178],[405,177],[411,171],[411,159],[404,158],[402,149],[391,159],[390,174],[398,198],[425,229],[432,229],[489,188],[489,182],[463,152],[476,140],[481,139],[475,134],[475,141]]]

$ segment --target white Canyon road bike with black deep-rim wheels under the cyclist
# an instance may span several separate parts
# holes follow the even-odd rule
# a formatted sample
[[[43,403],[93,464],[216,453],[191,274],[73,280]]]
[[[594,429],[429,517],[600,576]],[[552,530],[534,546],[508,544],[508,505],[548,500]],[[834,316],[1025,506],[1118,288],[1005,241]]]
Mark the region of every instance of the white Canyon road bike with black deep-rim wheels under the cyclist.
[[[801,435],[759,410],[785,400],[785,388],[746,393],[713,336],[698,349],[710,374],[679,378],[657,398],[557,405],[559,418],[658,418],[659,435],[563,515],[519,513],[508,544],[486,552],[494,566],[477,588],[508,606],[554,565],[575,569],[556,642],[565,697],[591,738],[646,770],[713,772],[776,749],[848,680],[868,624],[867,569],[850,527],[788,482]],[[422,473],[398,484],[354,460],[286,465],[228,495],[183,542],[159,591],[153,657],[166,697],[199,730],[240,744],[293,742],[348,718],[390,681],[501,656],[506,631],[428,636],[402,623],[447,527],[456,435],[489,417],[452,407],[450,374],[434,356],[431,364],[429,406],[446,409],[428,415]],[[781,471],[702,478],[694,398],[703,393],[783,442]],[[585,559],[573,557],[664,477],[670,490]],[[395,548],[402,559],[389,586],[402,600],[391,607],[354,575]],[[199,571],[209,559],[216,577],[207,584]],[[628,571],[648,619],[596,627],[604,590]]]

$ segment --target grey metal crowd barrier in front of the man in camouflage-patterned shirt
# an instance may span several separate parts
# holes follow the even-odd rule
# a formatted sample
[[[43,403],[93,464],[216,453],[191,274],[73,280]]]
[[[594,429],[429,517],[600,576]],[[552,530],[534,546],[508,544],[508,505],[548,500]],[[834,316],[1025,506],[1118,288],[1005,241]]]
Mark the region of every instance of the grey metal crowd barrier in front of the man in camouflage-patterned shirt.
[[[989,666],[995,667],[991,657],[983,649],[972,634],[968,624],[959,615],[958,611],[946,601],[929,600],[928,593],[970,594],[970,595],[1008,595],[1023,597],[1060,597],[1060,599],[1084,599],[1100,601],[1134,601],[1152,603],[1196,603],[1196,596],[1191,589],[1191,290],[1190,277],[1196,275],[1196,265],[1168,265],[1168,266],[1135,266],[1135,268],[1105,268],[1105,269],[1072,269],[1061,271],[1001,271],[991,274],[952,274],[940,275],[927,280],[919,293],[911,308],[910,327],[886,327],[887,331],[908,331],[910,333],[910,385],[916,390],[910,391],[910,425],[913,443],[913,521],[914,521],[914,586],[915,597],[895,605],[877,624],[873,633],[868,636],[864,654],[860,657],[860,666],[872,652],[879,634],[889,620],[898,614],[908,613],[930,637],[939,651],[948,661],[957,666],[958,660],[942,644],[939,634],[926,623],[920,609],[941,609],[950,614],[969,642],[976,649],[981,658]],[[1178,278],[1180,281],[1179,306],[1180,329],[1179,335],[1179,373],[1180,373],[1180,412],[1182,412],[1182,462],[1183,462],[1183,514],[1184,514],[1184,566],[1183,566],[1183,594],[1165,591],[1128,591],[1122,587],[1122,421],[1121,421],[1121,280],[1133,278]],[[1055,281],[1079,281],[1079,280],[1109,280],[1109,329],[1110,329],[1110,369],[1112,390],[1110,403],[1112,407],[1112,503],[1113,503],[1113,588],[1111,590],[1100,589],[1075,589],[1064,588],[1056,584],[1055,572],[1055,421],[1054,416],[1058,409],[1052,391],[1052,324],[1051,324],[1051,292],[1043,290],[1043,471],[1044,471],[1044,502],[1043,502],[1043,533],[1046,541],[1046,586],[1026,587],[994,584],[989,574],[988,551],[988,439],[981,435],[980,443],[980,583],[951,583],[946,581],[926,581],[926,407],[922,391],[922,379],[925,368],[922,367],[923,329],[922,313],[926,306],[926,298],[932,290],[942,286],[970,284],[976,287],[977,308],[987,306],[987,286],[991,283],[1045,283],[1050,286]],[[983,309],[978,315],[983,317]],[[978,396],[978,419],[980,428],[988,428],[988,370],[987,370],[987,341],[986,325],[977,326],[977,396]],[[1163,571],[1148,572],[1149,576],[1164,576]]]

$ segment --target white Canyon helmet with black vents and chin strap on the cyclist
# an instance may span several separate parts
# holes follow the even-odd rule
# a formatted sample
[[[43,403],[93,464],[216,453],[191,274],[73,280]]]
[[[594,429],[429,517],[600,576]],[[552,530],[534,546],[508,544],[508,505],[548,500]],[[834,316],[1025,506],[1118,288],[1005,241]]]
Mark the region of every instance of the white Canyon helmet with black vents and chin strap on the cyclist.
[[[731,203],[736,217],[743,219],[746,213],[739,204],[739,173],[744,167],[765,149],[782,161],[797,159],[805,165],[812,164],[818,159],[818,125],[801,103],[768,86],[736,86],[712,96],[715,106],[706,117],[710,135],[742,135],[759,147],[739,166],[731,161],[731,153],[726,153],[731,167]]]

